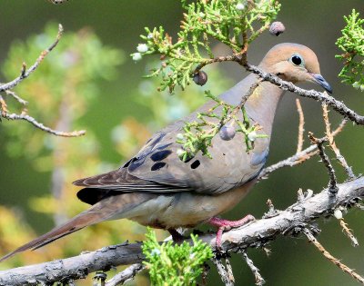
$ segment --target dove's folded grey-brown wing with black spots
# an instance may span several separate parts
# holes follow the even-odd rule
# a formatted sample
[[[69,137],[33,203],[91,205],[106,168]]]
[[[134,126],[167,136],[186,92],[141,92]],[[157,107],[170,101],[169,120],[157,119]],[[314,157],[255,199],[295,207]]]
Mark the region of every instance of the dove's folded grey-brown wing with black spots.
[[[207,110],[212,102],[199,111]],[[243,135],[237,133],[230,141],[218,135],[209,149],[212,159],[201,153],[182,162],[177,150],[177,133],[183,133],[185,121],[196,120],[192,113],[184,121],[168,125],[155,133],[146,145],[124,166],[111,173],[76,181],[86,188],[112,192],[227,192],[258,176],[268,156],[268,139],[258,138],[254,150],[247,153]]]

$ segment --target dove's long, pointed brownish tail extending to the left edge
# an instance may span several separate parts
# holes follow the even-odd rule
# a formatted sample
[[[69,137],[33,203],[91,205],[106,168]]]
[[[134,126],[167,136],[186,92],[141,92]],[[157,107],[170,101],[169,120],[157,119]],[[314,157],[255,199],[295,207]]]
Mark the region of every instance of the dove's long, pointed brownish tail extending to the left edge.
[[[80,214],[76,215],[76,217],[66,222],[65,224],[56,227],[50,232],[46,232],[45,234],[33,240],[32,242],[28,242],[25,245],[16,249],[15,251],[6,254],[4,257],[0,259],[0,262],[5,261],[6,259],[12,257],[16,253],[40,248],[45,244],[54,242],[57,239],[60,239],[61,237],[64,237],[72,232],[77,232],[88,225],[95,224],[96,222],[105,221],[109,217],[110,213],[92,212],[92,208],[86,212],[81,212]]]

